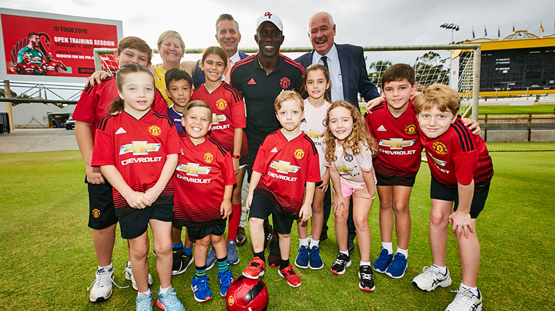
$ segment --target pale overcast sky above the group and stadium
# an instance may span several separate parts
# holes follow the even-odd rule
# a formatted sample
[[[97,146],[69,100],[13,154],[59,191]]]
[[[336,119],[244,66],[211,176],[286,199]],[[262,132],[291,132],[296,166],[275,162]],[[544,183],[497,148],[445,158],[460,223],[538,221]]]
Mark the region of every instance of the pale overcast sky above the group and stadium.
[[[460,31],[454,33],[454,41],[458,42],[472,38],[472,27],[476,37],[483,37],[486,26],[488,38],[495,39],[498,25],[501,37],[512,33],[513,23],[516,30],[528,25],[528,31],[538,35],[541,21],[543,35],[550,35],[554,33],[555,22],[553,0],[0,0],[0,7],[121,20],[124,36],[142,37],[153,48],[158,35],[167,29],[178,31],[188,48],[216,44],[214,22],[223,12],[239,22],[242,35],[239,49],[256,47],[253,38],[256,19],[266,11],[282,18],[285,35],[282,47],[310,47],[307,21],[319,11],[330,12],[334,17],[336,43],[361,46],[447,44],[451,31],[439,28],[443,23],[460,25]],[[410,61],[404,60],[407,56],[381,56],[370,58]]]

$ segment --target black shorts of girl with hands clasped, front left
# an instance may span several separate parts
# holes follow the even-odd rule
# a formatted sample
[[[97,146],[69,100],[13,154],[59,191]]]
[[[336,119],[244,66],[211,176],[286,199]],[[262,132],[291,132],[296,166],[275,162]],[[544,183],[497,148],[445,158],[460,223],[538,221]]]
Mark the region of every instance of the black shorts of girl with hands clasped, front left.
[[[156,200],[153,205],[143,208],[142,210],[133,209],[132,212],[118,217],[121,237],[123,237],[123,239],[133,239],[145,233],[148,228],[149,219],[169,222],[173,220],[173,204],[168,204],[167,202],[162,204],[157,202],[158,200]]]

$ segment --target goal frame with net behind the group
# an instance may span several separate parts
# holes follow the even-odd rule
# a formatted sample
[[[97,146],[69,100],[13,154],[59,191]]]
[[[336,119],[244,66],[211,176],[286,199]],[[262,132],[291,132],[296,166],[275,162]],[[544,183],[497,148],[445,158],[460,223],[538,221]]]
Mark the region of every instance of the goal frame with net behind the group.
[[[396,46],[369,46],[362,47],[365,52],[386,51],[429,51],[425,53],[427,60],[438,56],[436,51],[451,51],[449,62],[439,59],[437,64],[427,64],[418,58],[412,65],[416,72],[416,82],[422,87],[432,83],[450,85],[461,95],[461,115],[478,120],[481,45],[480,44],[439,44],[439,45],[396,45]],[[154,49],[154,53],[157,51]],[[257,49],[241,49],[245,53],[256,53]],[[301,53],[312,51],[309,47],[282,47],[280,53]],[[203,49],[187,49],[187,54],[200,54]],[[94,65],[97,71],[105,70],[115,72],[118,64],[112,55],[114,49],[94,49]],[[435,54],[434,54],[435,53]],[[376,59],[377,60],[377,59]],[[393,65],[384,62],[385,65]],[[370,64],[366,63],[366,70],[370,69],[370,80],[379,86],[379,77],[385,68],[373,72]],[[383,65],[383,64],[382,64]],[[409,64],[411,65],[411,64]],[[373,75],[374,74],[374,75]],[[469,112],[472,112],[471,115]]]

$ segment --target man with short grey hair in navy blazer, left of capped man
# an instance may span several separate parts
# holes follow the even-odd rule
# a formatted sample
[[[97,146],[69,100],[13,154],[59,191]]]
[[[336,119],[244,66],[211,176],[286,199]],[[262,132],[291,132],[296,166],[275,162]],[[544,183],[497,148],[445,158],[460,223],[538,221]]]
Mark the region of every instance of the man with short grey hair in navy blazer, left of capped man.
[[[222,14],[216,19],[216,40],[230,59],[230,67],[228,68],[229,74],[235,62],[248,56],[237,49],[237,47],[239,47],[239,42],[241,42],[241,33],[239,32],[239,24],[230,14]],[[225,81],[228,81],[228,79],[226,78]],[[196,70],[193,74],[193,85],[194,87],[198,87],[203,83],[205,83],[205,76],[203,69],[200,69],[200,60],[198,60],[198,62],[196,62]]]

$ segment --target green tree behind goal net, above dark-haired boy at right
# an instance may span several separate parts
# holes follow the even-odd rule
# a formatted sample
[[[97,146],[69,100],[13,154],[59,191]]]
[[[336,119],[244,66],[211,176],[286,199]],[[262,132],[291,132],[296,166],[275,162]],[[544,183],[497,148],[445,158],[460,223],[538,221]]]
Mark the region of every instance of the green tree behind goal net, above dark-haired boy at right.
[[[416,58],[414,65],[414,73],[416,75],[416,82],[419,84],[419,89],[434,83],[449,83],[449,69],[445,67],[446,58],[434,52],[429,51],[424,55]]]

